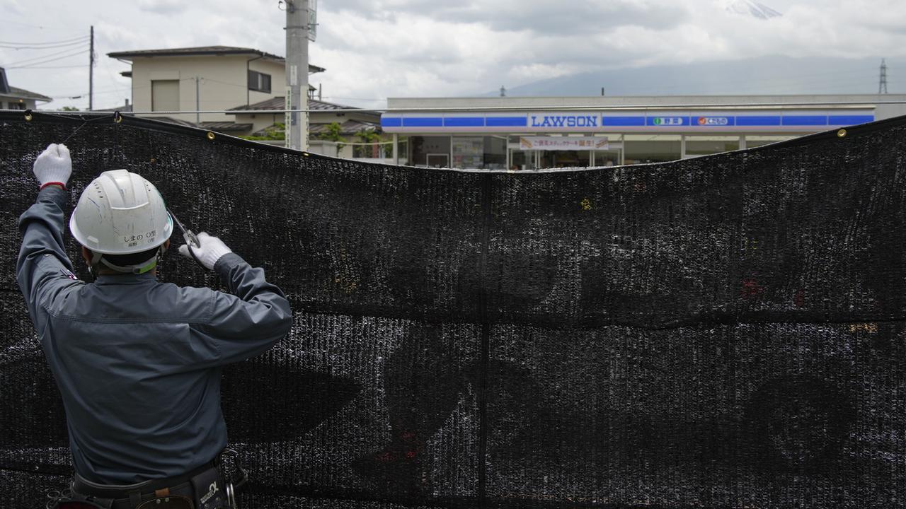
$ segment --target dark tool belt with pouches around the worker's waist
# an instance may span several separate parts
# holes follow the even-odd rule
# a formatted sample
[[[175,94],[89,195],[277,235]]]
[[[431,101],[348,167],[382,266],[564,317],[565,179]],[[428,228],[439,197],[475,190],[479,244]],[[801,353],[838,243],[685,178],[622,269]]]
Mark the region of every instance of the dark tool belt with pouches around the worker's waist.
[[[66,493],[49,494],[48,509],[236,509],[235,488],[247,475],[226,449],[213,461],[182,475],[133,485],[101,485],[75,474]],[[224,465],[223,458],[231,461]],[[234,481],[236,485],[234,485]]]

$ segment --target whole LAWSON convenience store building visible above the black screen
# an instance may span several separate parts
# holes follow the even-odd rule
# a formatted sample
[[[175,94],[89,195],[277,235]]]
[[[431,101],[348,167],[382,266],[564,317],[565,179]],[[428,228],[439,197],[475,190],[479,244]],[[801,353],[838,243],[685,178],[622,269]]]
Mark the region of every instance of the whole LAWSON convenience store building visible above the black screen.
[[[398,164],[530,170],[667,161],[906,114],[903,95],[390,99]]]

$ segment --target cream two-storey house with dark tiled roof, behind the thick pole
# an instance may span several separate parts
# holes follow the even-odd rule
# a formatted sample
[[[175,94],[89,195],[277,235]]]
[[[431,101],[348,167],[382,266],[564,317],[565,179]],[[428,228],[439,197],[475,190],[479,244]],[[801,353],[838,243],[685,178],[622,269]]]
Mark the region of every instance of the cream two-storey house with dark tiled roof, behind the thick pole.
[[[132,79],[132,103],[116,110],[246,136],[262,134],[282,125],[284,113],[285,60],[251,48],[204,46],[107,53],[131,63],[122,72]],[[309,65],[308,72],[323,72]],[[349,111],[348,106],[313,99],[309,87],[309,139],[312,151],[352,158],[356,153],[380,151],[368,146],[354,149],[361,131],[380,131],[378,112]],[[195,111],[218,111],[196,113]],[[260,111],[260,113],[258,112]],[[349,143],[319,140],[332,123]]]

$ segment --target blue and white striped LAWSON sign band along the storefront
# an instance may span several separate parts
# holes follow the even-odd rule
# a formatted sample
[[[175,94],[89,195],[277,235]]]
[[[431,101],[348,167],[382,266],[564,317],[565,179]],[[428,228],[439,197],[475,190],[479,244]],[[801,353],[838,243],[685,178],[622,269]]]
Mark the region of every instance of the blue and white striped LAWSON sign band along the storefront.
[[[384,113],[386,132],[821,131],[874,120],[873,110]]]

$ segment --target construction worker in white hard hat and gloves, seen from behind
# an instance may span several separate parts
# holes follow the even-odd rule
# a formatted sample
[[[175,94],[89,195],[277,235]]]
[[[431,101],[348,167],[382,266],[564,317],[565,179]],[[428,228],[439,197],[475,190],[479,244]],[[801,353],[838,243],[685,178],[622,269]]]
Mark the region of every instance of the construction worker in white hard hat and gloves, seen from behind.
[[[125,169],[101,173],[72,212],[70,231],[95,275],[80,281],[63,248],[71,174],[64,145],[34,161],[41,187],[19,218],[16,265],[66,411],[75,475],[58,506],[226,506],[221,368],[283,338],[289,303],[262,269],[204,233],[179,254],[195,255],[232,294],[160,283],[173,220],[157,188]]]

